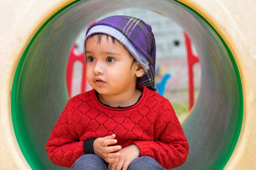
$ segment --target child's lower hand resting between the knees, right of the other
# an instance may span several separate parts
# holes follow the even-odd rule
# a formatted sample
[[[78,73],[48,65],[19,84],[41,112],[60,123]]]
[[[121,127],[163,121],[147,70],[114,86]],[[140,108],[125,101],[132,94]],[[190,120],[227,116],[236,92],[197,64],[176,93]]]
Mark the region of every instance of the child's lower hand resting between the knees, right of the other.
[[[140,149],[138,146],[132,144],[122,148],[118,153],[120,153],[118,162],[108,164],[109,170],[127,170],[132,160],[140,156]]]

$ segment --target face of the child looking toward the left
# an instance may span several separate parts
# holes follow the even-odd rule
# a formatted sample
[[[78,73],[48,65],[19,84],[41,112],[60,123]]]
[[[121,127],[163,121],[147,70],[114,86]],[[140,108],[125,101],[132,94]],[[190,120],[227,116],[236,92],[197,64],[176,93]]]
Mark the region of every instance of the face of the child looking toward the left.
[[[128,50],[119,42],[113,43],[111,37],[103,35],[101,41],[98,36],[86,40],[86,78],[93,89],[99,94],[115,96],[126,92],[133,92],[136,78],[144,71]]]

